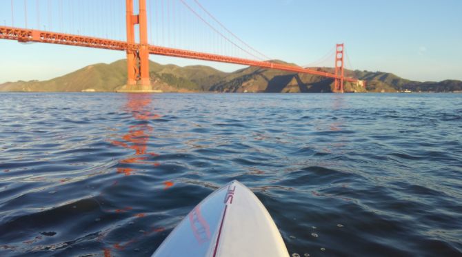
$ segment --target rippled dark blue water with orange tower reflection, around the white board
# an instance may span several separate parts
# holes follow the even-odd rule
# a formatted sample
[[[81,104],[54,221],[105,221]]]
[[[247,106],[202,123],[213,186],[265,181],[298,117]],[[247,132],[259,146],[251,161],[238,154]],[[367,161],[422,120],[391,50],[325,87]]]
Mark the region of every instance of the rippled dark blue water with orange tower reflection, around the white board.
[[[0,256],[150,256],[233,179],[293,256],[462,256],[462,94],[0,94]]]

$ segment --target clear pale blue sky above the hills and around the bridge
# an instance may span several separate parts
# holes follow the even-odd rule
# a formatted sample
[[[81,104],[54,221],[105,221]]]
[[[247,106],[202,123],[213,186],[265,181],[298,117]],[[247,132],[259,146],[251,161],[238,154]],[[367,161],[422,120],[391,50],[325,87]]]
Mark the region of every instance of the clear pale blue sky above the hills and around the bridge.
[[[88,24],[100,22],[92,18],[94,17],[92,11],[98,12],[97,7],[83,12],[82,6],[85,7],[94,0],[82,0],[83,2],[39,0],[40,21],[35,10],[36,0],[26,0],[28,27],[40,25],[41,29],[46,28],[50,19],[47,17],[48,1],[57,10],[59,1],[63,1],[64,9],[66,4],[72,4],[74,14],[79,17],[88,13],[88,17],[80,20],[74,17],[72,25],[70,17],[74,14],[70,12],[61,12],[65,17],[61,20],[63,24],[59,23],[60,14],[57,14],[57,17],[52,16],[54,30],[59,30],[61,26],[62,31],[77,32],[75,28],[77,25],[74,23],[81,23],[84,28],[90,28],[92,26]],[[110,2],[117,3],[117,7],[103,14],[106,20],[115,20],[112,23],[114,25],[106,32],[98,33],[87,29],[85,33],[106,33],[110,34],[110,37],[123,39],[123,33],[118,33],[114,29],[123,27],[125,19],[123,10],[122,17],[117,19],[123,8],[123,0],[98,1],[101,6]],[[156,5],[161,0],[156,0],[155,3],[151,1],[150,4]],[[177,4],[179,8],[179,0],[163,0],[163,3],[166,4],[166,1]],[[22,27],[25,25],[23,0],[13,0],[13,2],[14,25]],[[462,1],[199,0],[199,2],[234,34],[272,59],[304,65],[321,59],[334,48],[335,43],[345,43],[350,59],[347,63],[348,68],[392,72],[403,78],[417,81],[462,80],[462,15],[460,13]],[[193,2],[188,0],[188,3]],[[66,10],[71,10],[70,7]],[[154,21],[152,19],[152,22]],[[2,25],[3,23],[11,25],[10,1],[0,2],[0,22]],[[190,40],[183,40],[181,43],[188,44]],[[181,39],[178,38],[177,41]],[[40,43],[21,44],[7,40],[0,40],[0,49],[2,56],[0,83],[19,79],[51,79],[92,63],[110,63],[125,58],[123,52],[117,51]],[[150,59],[177,65],[205,64],[225,71],[242,67],[162,56],[150,56]],[[333,63],[333,60],[330,62]]]

